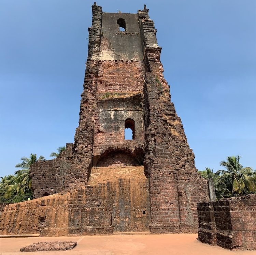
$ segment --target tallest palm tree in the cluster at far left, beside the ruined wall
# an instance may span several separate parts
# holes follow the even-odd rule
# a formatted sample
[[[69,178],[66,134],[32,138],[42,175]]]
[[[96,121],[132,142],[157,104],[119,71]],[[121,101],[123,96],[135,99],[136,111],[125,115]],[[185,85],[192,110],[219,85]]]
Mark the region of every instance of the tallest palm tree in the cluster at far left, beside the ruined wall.
[[[22,162],[17,164],[15,167],[21,169],[17,170],[14,174],[17,175],[18,183],[23,187],[24,192],[29,192],[32,186],[32,180],[29,177],[30,166],[36,161],[45,160],[45,157],[40,156],[37,159],[37,154],[31,153],[29,158],[23,157],[20,160],[22,160]]]

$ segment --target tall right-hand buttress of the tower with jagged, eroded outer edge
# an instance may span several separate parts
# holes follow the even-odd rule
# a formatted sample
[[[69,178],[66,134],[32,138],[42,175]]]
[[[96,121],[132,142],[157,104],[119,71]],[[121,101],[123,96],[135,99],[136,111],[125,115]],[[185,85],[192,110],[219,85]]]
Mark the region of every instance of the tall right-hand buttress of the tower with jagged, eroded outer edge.
[[[148,10],[138,11],[145,47],[142,107],[146,172],[150,177],[151,231],[195,232],[198,201],[209,200],[207,182],[197,174],[181,119],[163,78],[161,48]]]

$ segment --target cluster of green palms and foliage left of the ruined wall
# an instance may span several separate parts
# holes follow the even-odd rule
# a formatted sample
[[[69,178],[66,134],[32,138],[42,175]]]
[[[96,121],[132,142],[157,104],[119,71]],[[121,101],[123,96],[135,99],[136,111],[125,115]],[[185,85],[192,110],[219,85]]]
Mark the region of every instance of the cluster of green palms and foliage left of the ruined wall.
[[[17,203],[28,200],[32,197],[32,181],[29,176],[30,166],[39,160],[45,160],[43,156],[37,158],[37,154],[30,154],[30,157],[23,157],[16,168],[21,168],[15,175],[1,177],[0,180],[0,202]]]

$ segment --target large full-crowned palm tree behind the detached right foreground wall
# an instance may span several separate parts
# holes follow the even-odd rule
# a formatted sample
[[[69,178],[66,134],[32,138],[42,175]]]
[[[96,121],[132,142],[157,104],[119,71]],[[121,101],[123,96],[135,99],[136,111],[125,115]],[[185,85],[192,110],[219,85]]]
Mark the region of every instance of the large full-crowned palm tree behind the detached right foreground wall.
[[[253,180],[253,170],[250,167],[243,168],[239,163],[241,156],[227,157],[227,161],[221,161],[226,170],[218,170],[216,174],[222,174],[221,179],[232,194],[242,195],[256,191]]]

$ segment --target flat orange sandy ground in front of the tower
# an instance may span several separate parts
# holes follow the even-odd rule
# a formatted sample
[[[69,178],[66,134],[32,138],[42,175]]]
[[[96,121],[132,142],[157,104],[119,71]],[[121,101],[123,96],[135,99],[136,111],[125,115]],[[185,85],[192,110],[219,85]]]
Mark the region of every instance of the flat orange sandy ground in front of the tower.
[[[0,254],[17,255],[21,247],[43,241],[77,241],[77,246],[69,251],[25,252],[24,255],[256,255],[256,251],[229,251],[198,242],[197,234],[0,238]]]

